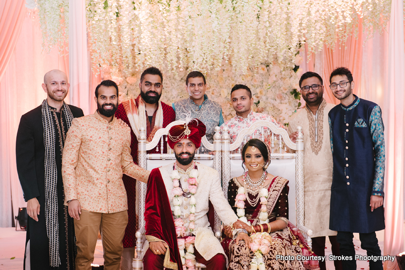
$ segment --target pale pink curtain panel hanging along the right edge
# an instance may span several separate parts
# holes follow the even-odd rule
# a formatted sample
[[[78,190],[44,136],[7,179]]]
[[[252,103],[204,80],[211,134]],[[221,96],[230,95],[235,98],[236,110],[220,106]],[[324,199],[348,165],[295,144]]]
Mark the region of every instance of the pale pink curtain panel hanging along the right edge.
[[[393,0],[388,39],[387,77],[384,91],[386,132],[386,229],[384,254],[404,251],[405,178],[405,52],[403,0]],[[384,269],[399,269],[397,262],[386,261]]]

